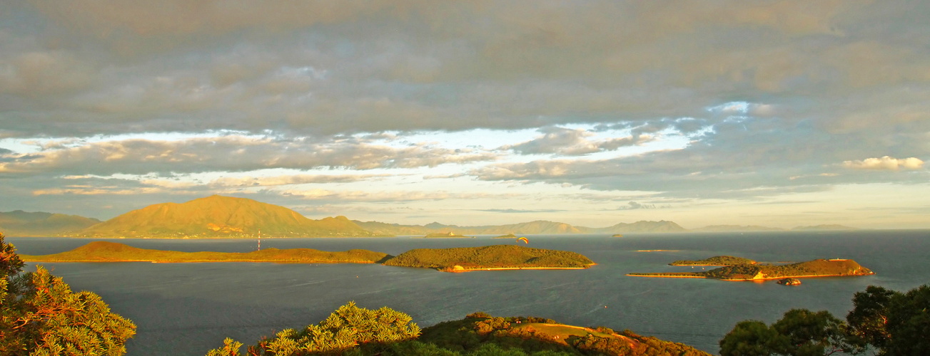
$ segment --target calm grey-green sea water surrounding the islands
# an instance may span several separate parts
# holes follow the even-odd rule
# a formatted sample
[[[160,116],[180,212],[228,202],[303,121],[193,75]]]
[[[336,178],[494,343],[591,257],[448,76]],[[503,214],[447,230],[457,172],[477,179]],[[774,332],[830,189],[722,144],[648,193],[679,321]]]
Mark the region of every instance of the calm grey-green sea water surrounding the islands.
[[[388,306],[420,326],[470,312],[534,315],[565,324],[604,325],[683,342],[717,353],[717,341],[746,319],[772,323],[791,308],[827,310],[843,318],[866,286],[908,290],[930,283],[930,230],[670,235],[529,235],[530,247],[575,251],[588,270],[440,273],[378,264],[45,263],[74,290],[99,294],[139,326],[129,355],[203,355],[233,337],[246,345],[284,328],[319,323],[354,300]],[[89,239],[7,238],[20,253],[48,254]],[[254,240],[112,240],[138,248],[245,252]],[[399,254],[411,248],[512,243],[465,239],[265,239],[262,248],[365,248]],[[638,252],[641,249],[677,251]],[[849,258],[876,274],[774,282],[643,278],[631,272],[692,271],[667,263],[734,255],[756,261]],[[699,269],[700,267],[697,267]],[[29,267],[33,270],[33,267]]]

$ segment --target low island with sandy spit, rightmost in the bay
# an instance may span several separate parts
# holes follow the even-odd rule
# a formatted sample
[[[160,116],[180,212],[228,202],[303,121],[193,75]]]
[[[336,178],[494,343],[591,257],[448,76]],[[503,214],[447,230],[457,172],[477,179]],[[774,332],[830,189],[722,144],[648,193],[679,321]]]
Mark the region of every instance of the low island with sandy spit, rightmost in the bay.
[[[735,264],[707,272],[628,273],[637,277],[713,278],[724,281],[760,281],[782,278],[854,276],[874,274],[856,261],[844,259],[814,260],[782,265]]]

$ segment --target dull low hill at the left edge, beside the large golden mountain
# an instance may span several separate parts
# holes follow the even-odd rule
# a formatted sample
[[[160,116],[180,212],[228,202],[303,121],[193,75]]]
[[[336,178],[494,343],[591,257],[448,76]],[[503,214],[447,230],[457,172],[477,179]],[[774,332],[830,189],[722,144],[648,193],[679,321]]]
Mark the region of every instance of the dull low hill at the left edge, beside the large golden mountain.
[[[0,232],[7,236],[60,236],[83,230],[100,220],[51,212],[0,212]]]

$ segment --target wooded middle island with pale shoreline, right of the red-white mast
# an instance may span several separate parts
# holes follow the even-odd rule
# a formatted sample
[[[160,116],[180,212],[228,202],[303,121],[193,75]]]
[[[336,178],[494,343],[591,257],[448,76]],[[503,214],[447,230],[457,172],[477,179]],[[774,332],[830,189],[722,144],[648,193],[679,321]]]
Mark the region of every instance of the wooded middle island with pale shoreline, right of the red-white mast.
[[[458,273],[494,270],[576,270],[591,267],[594,262],[570,251],[494,245],[478,248],[411,249],[382,264]]]

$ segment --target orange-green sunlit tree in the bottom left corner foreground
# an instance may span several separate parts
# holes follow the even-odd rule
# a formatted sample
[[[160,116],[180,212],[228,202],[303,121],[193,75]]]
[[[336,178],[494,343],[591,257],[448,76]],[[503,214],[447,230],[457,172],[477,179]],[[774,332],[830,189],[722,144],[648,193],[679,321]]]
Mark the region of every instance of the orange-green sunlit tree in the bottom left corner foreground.
[[[0,234],[0,354],[122,355],[136,325],[100,296],[71,287],[42,267],[20,273],[23,261]]]

